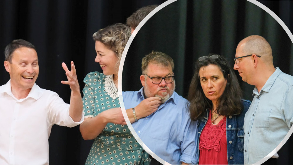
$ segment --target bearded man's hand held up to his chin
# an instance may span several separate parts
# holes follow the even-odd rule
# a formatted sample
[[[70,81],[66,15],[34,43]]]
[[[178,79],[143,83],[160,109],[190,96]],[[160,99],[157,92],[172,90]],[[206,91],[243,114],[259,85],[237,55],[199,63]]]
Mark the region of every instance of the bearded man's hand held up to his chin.
[[[162,101],[159,97],[149,97],[140,102],[134,109],[137,119],[147,117],[154,113],[161,105]]]

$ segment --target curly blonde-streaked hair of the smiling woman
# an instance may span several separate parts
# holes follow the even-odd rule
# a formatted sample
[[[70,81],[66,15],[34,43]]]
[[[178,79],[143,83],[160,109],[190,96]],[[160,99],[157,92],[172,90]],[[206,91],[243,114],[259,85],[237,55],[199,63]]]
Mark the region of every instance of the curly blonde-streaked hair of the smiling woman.
[[[115,67],[118,69],[123,50],[130,35],[131,28],[129,26],[116,23],[98,30],[93,34],[93,40],[102,42],[108,49],[116,54],[118,60]]]

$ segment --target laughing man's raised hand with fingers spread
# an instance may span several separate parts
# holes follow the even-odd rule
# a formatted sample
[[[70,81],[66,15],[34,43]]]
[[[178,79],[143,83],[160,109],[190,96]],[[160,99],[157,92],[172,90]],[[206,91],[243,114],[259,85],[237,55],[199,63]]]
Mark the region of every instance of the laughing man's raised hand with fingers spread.
[[[61,83],[69,85],[70,89],[74,92],[80,92],[79,84],[78,84],[78,80],[76,76],[75,65],[73,64],[73,61],[71,61],[71,71],[69,71],[69,69],[67,68],[64,62],[62,62],[62,67],[65,71],[68,81],[61,81]]]

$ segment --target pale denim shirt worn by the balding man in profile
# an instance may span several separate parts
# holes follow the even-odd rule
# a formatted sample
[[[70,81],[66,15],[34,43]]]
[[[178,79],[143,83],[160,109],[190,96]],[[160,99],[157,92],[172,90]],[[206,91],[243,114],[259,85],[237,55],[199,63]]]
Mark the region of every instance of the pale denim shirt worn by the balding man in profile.
[[[293,76],[279,68],[270,76],[244,118],[244,163],[264,158],[284,139],[293,123]]]

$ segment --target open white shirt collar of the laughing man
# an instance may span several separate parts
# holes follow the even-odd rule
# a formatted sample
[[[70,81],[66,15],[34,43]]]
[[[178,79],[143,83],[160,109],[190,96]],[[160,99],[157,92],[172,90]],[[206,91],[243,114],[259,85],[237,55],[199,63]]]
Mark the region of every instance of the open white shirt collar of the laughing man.
[[[5,92],[11,97],[13,97],[14,99],[18,100],[11,92],[11,79],[6,83],[4,88],[0,88],[0,93],[5,93]],[[30,93],[28,93],[28,96],[26,98],[19,99],[18,101],[23,101],[29,97],[35,100],[38,100],[41,96],[42,96],[42,92],[40,91],[40,87],[35,83],[32,89],[30,90]]]

